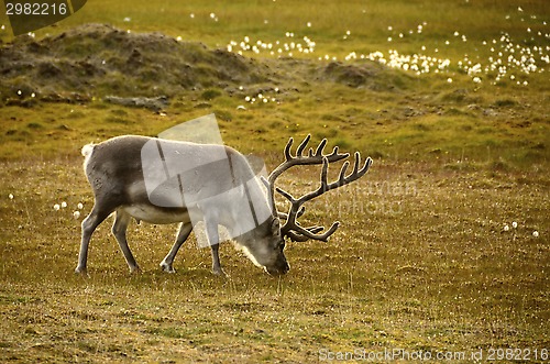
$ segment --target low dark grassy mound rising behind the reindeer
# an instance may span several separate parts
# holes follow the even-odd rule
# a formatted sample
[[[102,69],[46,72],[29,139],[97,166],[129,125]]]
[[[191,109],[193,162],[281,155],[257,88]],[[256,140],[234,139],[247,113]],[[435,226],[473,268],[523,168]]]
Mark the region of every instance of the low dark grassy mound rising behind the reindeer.
[[[129,33],[105,24],[86,24],[38,41],[24,36],[0,49],[0,92],[8,104],[86,101],[106,95],[174,97],[210,87],[231,93],[241,86],[283,81],[392,88],[376,84],[381,71],[391,70],[374,63],[261,62],[198,42]],[[31,96],[34,100],[29,100]]]

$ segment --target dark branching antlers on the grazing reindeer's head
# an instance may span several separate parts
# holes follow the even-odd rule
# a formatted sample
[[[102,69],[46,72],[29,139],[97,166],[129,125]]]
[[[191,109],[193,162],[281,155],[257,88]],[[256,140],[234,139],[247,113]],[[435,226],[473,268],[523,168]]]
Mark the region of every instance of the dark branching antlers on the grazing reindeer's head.
[[[328,241],[329,236],[332,235],[334,231],[337,231],[338,227],[340,225],[340,222],[336,221],[330,227],[330,229],[328,229],[323,233],[320,233],[321,231],[324,230],[323,227],[314,225],[309,228],[304,228],[298,223],[298,221],[296,221],[296,219],[298,219],[305,212],[305,207],[302,205],[309,200],[312,200],[323,195],[324,192],[331,189],[339,188],[341,186],[348,185],[361,178],[363,175],[366,174],[373,162],[371,158],[366,158],[364,165],[361,166],[361,155],[359,152],[355,152],[355,162],[352,173],[345,176],[345,172],[350,166],[350,162],[346,161],[342,165],[342,169],[340,170],[338,180],[329,184],[327,177],[329,163],[346,158],[350,156],[350,154],[349,153],[340,154],[338,152],[338,146],[333,148],[331,154],[327,155],[323,154],[324,146],[327,145],[327,140],[323,139],[321,143],[319,143],[319,146],[315,152],[312,148],[309,148],[308,154],[304,155],[304,151],[306,150],[306,146],[310,139],[311,135],[308,134],[306,139],[298,145],[298,148],[296,150],[296,156],[293,156],[290,153],[294,140],[292,137],[289,139],[288,143],[285,146],[286,161],[283,162],[277,168],[275,168],[271,173],[266,184],[271,191],[272,206],[274,212],[276,211],[275,195],[274,195],[275,190],[290,201],[290,209],[288,210],[288,213],[277,212],[277,216],[279,218],[286,219],[285,224],[283,225],[283,228],[280,228],[283,236],[288,236],[292,241],[295,242],[304,242],[309,239]],[[289,192],[278,187],[277,188],[275,187],[275,179],[277,179],[278,176],[280,176],[285,170],[289,169],[290,167],[296,165],[316,165],[316,164],[322,164],[321,176],[320,176],[321,185],[319,186],[319,188],[317,188],[317,190],[306,194],[299,198],[295,198]]]

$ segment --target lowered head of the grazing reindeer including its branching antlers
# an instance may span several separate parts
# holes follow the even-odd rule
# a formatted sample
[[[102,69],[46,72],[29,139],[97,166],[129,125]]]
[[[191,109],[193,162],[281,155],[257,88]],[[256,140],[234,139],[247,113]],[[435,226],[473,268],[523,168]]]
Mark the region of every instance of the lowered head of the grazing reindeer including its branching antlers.
[[[285,238],[288,238],[293,242],[305,242],[310,239],[326,242],[328,241],[329,236],[336,232],[340,224],[340,222],[336,221],[328,230],[326,230],[324,227],[318,225],[308,228],[300,225],[297,219],[301,217],[306,211],[304,203],[323,195],[331,189],[339,188],[361,178],[366,174],[372,164],[372,159],[366,158],[365,163],[361,165],[361,155],[359,152],[356,152],[353,170],[349,175],[345,175],[350,166],[350,162],[345,161],[340,170],[339,178],[336,181],[329,183],[327,177],[329,164],[348,158],[350,154],[339,153],[338,146],[334,147],[332,153],[324,154],[323,150],[327,145],[326,139],[321,141],[315,152],[312,148],[309,148],[308,153],[304,154],[304,151],[306,150],[310,137],[311,135],[306,136],[306,139],[298,145],[296,155],[294,156],[290,153],[294,140],[290,137],[285,146],[286,161],[283,162],[278,167],[276,167],[271,173],[267,179],[263,179],[270,194],[270,201],[272,205],[271,207],[272,211],[274,211],[274,214],[271,222],[268,222],[263,229],[258,229],[258,231],[263,231],[265,236],[268,236],[271,234],[271,243],[266,244],[265,246],[265,250],[271,251],[250,253],[252,253],[253,255],[253,257],[251,257],[253,262],[255,258],[255,261],[260,265],[264,266],[270,274],[285,274],[289,269],[288,264],[286,263],[286,257],[283,253],[283,250],[285,247]],[[298,165],[322,165],[322,167],[320,175],[320,186],[309,194],[306,194],[299,198],[295,198],[293,195],[283,190],[282,188],[275,187],[275,180],[285,170]],[[275,191],[290,201],[290,208],[288,212],[277,211],[275,205]],[[282,227],[279,224],[279,220],[284,221],[284,224]]]

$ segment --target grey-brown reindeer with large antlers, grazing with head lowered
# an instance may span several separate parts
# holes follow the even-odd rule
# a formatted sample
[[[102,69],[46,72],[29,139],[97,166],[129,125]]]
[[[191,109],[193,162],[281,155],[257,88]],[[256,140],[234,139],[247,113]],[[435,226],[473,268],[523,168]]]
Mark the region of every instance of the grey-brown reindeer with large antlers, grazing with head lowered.
[[[101,222],[114,213],[112,234],[130,272],[140,271],[127,241],[127,228],[131,218],[157,224],[180,224],[175,243],[160,264],[163,271],[174,273],[174,258],[198,217],[205,223],[215,274],[223,274],[219,258],[218,225],[228,229],[235,245],[255,265],[263,267],[270,275],[286,274],[290,267],[284,254],[285,238],[294,242],[310,239],[328,241],[339,227],[337,221],[328,230],[317,225],[304,228],[297,222],[305,212],[302,205],[361,178],[372,164],[372,159],[367,158],[361,165],[361,156],[356,152],[353,170],[345,175],[350,165],[346,161],[339,178],[329,183],[329,164],[350,155],[339,153],[338,146],[332,153],[324,154],[327,140],[322,140],[316,151],[309,148],[305,154],[309,140],[310,135],[298,145],[296,154],[292,155],[294,140],[290,137],[285,147],[285,162],[267,179],[256,177],[241,153],[223,145],[136,135],[117,136],[99,144],[85,145],[81,151],[85,156],[84,169],[94,190],[95,205],[81,223],[80,252],[75,272],[87,272],[91,235]],[[152,155],[160,158],[153,161],[144,151],[154,151],[155,147],[157,154]],[[211,157],[212,155],[222,157]],[[170,163],[190,167],[184,173],[174,174],[168,168]],[[295,198],[275,187],[275,181],[284,172],[298,165],[322,167],[319,188]],[[290,201],[288,212],[276,210],[275,191]],[[280,221],[284,221],[283,225]]]

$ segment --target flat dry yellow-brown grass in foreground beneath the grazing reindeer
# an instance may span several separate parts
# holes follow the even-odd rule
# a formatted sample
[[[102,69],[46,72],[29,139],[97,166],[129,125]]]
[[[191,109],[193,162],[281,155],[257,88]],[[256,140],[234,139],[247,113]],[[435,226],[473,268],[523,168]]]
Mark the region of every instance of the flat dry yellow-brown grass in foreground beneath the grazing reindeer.
[[[378,163],[311,207],[311,221],[342,227],[328,244],[289,244],[292,272],[280,279],[231,244],[221,256],[230,277],[215,277],[208,250],[194,240],[178,272],[164,274],[157,264],[175,229],[146,224],[130,230],[144,269],[131,276],[106,223],[85,278],[73,274],[79,227],[72,211],[78,202],[91,208],[79,163],[2,165],[10,177],[1,190],[14,196],[0,202],[4,360],[298,363],[323,350],[548,348],[548,180],[540,175]],[[62,200],[68,207],[54,211]],[[505,232],[512,221],[518,228]]]

